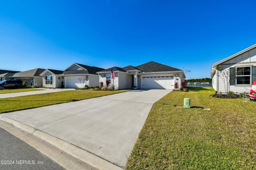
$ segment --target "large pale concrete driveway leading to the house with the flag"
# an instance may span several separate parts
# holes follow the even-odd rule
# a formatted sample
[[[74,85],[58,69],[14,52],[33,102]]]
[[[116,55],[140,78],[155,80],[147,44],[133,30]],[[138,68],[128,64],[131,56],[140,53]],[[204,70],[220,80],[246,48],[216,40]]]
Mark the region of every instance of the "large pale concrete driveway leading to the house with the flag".
[[[152,105],[169,92],[129,91],[1,115],[124,167]]]

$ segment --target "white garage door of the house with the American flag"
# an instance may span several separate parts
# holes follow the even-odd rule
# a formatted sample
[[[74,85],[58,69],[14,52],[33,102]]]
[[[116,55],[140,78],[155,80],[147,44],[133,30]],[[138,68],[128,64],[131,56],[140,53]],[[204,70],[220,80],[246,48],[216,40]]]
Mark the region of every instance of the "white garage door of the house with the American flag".
[[[174,89],[173,76],[142,76],[142,89]]]

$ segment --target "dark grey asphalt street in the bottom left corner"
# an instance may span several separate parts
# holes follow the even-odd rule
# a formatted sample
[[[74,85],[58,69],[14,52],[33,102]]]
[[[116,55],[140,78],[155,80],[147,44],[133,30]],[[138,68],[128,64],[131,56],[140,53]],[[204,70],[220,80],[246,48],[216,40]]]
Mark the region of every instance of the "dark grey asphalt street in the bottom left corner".
[[[2,128],[0,128],[0,162],[0,169],[64,169]]]

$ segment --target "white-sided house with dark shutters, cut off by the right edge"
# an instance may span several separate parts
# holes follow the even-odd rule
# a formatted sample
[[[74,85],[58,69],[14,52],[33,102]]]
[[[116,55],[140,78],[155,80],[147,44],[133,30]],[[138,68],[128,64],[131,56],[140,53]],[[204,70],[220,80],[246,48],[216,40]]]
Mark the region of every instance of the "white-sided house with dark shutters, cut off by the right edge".
[[[213,64],[211,77],[218,92],[249,92],[256,80],[256,44]]]

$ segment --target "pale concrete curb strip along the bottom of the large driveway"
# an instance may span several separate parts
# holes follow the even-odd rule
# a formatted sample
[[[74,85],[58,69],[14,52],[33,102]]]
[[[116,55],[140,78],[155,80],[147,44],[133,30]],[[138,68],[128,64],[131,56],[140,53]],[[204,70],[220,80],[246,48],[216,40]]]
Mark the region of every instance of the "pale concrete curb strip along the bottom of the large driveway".
[[[10,118],[4,117],[0,115],[0,120],[4,121],[6,123],[12,124],[15,127],[26,131],[27,133],[31,135],[35,135],[39,139],[42,139],[51,145],[59,148],[60,150],[66,152],[67,154],[73,156],[74,158],[77,158],[84,162],[85,164],[88,164],[92,167],[95,167],[97,169],[106,169],[106,170],[123,170],[121,167],[116,166],[110,162],[108,162],[105,159],[102,159],[96,155],[91,154],[90,152],[87,152],[86,150],[83,150],[81,148],[76,147],[75,145],[72,145],[71,143],[68,143],[66,141],[63,141],[59,138],[53,137],[50,134],[47,134],[45,132],[42,132],[40,130],[37,130],[35,128],[32,128],[31,126],[28,126],[26,124],[14,121]],[[39,150],[40,151],[40,150]]]

